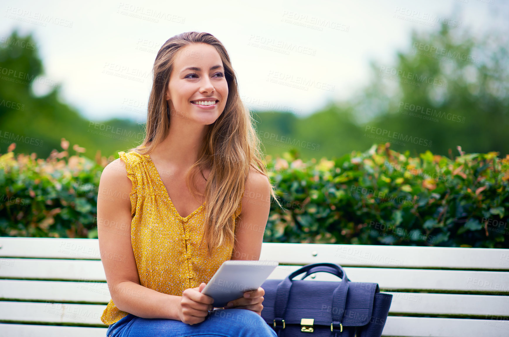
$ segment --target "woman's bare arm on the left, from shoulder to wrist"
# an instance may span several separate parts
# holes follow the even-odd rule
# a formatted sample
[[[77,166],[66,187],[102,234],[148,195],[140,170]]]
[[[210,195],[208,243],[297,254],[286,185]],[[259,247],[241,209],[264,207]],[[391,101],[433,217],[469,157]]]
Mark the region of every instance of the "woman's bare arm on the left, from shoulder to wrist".
[[[181,296],[140,285],[131,245],[131,188],[121,159],[104,168],[97,196],[97,230],[109,293],[117,308],[127,313],[180,320]]]

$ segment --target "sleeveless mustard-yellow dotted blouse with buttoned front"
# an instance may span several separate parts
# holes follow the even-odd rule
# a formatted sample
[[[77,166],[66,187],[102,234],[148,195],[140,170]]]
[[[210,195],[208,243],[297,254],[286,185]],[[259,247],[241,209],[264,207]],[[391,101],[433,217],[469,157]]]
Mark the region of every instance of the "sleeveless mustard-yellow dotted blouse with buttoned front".
[[[142,286],[164,294],[182,296],[187,288],[208,283],[219,266],[232,257],[233,244],[227,242],[207,256],[203,240],[206,207],[203,203],[190,215],[179,215],[149,155],[119,152],[132,181],[131,243]],[[242,204],[237,207],[235,220]],[[234,228],[235,229],[235,228]],[[128,313],[109,300],[101,321],[113,324]]]

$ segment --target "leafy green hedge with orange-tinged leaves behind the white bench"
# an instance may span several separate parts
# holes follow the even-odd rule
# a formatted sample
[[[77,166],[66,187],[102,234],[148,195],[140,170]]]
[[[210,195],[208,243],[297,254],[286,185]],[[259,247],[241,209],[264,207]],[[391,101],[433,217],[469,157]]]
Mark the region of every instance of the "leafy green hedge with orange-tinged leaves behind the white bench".
[[[62,144],[45,160],[14,156],[14,144],[0,157],[0,235],[97,237],[106,158]],[[509,248],[509,156],[412,158],[388,145],[319,162],[268,156],[285,209],[272,203],[264,241]]]

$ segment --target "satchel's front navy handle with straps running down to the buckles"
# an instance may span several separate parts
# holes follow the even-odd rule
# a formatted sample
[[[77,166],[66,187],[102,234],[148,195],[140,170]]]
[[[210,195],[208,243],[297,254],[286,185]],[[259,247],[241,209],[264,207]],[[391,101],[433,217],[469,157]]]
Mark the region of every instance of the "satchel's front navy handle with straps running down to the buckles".
[[[291,274],[289,274],[284,280],[282,280],[278,284],[276,291],[276,300],[274,305],[274,326],[276,325],[276,323],[282,322],[282,324],[284,324],[284,317],[287,310],[288,298],[290,296],[290,289],[292,287],[293,282],[292,279],[303,272],[306,272],[306,275],[304,276],[305,278],[308,274],[312,274],[314,272],[319,271],[329,272],[342,279],[340,285],[337,286],[337,288],[334,290],[332,294],[332,308],[331,308],[331,318],[332,318],[331,326],[332,324],[335,326],[341,325],[341,322],[343,321],[343,315],[345,313],[345,306],[348,293],[348,282],[350,282],[350,280],[348,280],[346,272],[343,269],[343,267],[335,263],[323,262],[305,265],[302,268],[297,269]]]

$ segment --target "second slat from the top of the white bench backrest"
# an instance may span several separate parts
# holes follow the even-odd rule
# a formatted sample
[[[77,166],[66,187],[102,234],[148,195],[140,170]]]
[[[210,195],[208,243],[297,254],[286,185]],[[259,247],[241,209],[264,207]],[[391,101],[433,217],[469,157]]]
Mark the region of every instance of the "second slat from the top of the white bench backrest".
[[[6,264],[0,264],[0,278],[106,281],[101,261],[4,259],[4,262]],[[298,268],[299,266],[278,266],[269,275],[269,279],[284,279]],[[383,289],[509,293],[509,278],[504,271],[357,267],[346,267],[345,271],[351,281],[378,283]],[[315,275],[315,279],[308,277],[306,280],[339,280],[325,272]]]

